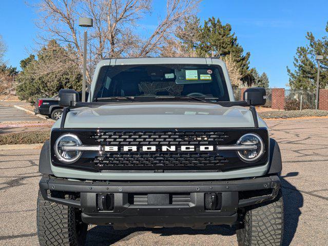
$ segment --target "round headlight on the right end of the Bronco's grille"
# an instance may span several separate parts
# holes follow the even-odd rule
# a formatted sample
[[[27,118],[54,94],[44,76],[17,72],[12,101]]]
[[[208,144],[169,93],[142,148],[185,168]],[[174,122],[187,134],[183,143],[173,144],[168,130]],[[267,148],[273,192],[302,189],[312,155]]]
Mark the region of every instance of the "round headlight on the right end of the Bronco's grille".
[[[245,150],[237,151],[239,157],[246,162],[258,160],[264,153],[263,140],[259,135],[254,133],[243,135],[237,141],[237,145],[246,147]]]

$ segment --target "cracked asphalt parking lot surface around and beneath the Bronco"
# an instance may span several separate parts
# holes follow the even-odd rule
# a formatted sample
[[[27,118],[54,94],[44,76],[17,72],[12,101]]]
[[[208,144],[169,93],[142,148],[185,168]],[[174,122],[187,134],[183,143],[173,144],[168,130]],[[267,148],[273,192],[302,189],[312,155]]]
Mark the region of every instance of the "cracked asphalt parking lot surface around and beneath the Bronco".
[[[270,120],[282,152],[283,245],[328,244],[328,119]],[[38,245],[36,196],[40,150],[0,151],[0,245]],[[89,228],[87,245],[237,245],[229,227]]]

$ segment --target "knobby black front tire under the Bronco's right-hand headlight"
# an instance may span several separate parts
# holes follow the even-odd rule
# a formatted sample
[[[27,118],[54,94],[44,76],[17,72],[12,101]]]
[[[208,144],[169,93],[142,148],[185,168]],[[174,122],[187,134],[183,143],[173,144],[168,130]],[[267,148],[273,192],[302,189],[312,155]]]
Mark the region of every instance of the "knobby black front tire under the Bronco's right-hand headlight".
[[[280,246],[283,236],[283,199],[281,189],[272,200],[250,207],[244,223],[237,227],[239,246]]]

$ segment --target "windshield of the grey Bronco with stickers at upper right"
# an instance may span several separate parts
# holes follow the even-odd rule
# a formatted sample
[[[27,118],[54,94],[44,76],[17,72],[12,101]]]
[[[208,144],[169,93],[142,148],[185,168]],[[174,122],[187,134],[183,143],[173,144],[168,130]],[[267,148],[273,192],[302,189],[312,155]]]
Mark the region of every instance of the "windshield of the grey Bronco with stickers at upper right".
[[[165,98],[229,101],[220,66],[195,64],[103,66],[93,101]]]

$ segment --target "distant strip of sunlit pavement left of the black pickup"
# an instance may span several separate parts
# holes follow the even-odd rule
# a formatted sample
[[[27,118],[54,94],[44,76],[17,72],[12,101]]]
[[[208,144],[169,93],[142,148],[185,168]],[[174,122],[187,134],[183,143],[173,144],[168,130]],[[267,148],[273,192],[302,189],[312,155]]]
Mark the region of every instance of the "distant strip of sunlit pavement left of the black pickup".
[[[5,121],[35,121],[35,120],[42,120],[42,119],[33,114],[29,114],[24,110],[20,110],[11,106],[0,105],[0,123]]]

